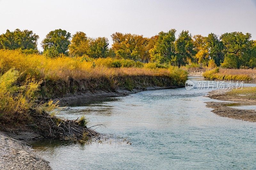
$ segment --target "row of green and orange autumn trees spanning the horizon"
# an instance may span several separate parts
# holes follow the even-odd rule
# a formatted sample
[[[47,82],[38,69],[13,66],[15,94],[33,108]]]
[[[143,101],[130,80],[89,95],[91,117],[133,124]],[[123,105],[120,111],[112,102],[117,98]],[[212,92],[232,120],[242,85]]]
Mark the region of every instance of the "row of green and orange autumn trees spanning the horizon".
[[[175,29],[161,31],[151,38],[116,32],[111,35],[113,44],[110,47],[106,37],[90,38],[84,32],[76,32],[71,36],[66,30],[56,29],[46,35],[41,45],[43,55],[52,58],[88,55],[91,58],[116,57],[178,67],[188,63],[208,67],[208,63],[213,61],[217,66],[230,69],[256,67],[256,41],[251,39],[250,33],[232,32],[220,36],[210,33],[206,37],[192,37],[183,30],[178,37],[175,35]],[[39,36],[33,31],[7,30],[0,35],[0,49],[38,53],[38,39]]]

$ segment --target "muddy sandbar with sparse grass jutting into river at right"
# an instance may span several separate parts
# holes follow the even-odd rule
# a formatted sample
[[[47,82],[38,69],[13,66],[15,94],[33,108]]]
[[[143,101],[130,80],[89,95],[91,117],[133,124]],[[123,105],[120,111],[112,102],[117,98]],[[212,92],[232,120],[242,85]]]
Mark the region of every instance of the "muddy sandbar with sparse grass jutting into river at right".
[[[226,96],[225,93],[231,91],[231,89],[219,89],[209,92],[207,97],[217,100],[233,101],[238,105],[255,105],[255,100],[245,100],[239,98],[239,96]],[[206,107],[213,108],[212,112],[216,115],[229,117],[233,119],[240,119],[249,122],[256,122],[256,111],[231,108],[230,102],[205,102]]]

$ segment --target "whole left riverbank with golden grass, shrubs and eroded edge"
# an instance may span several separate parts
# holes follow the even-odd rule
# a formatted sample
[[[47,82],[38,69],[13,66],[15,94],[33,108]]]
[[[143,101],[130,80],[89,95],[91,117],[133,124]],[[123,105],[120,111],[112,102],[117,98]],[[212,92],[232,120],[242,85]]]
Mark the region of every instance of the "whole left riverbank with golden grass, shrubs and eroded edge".
[[[44,55],[0,50],[0,128],[23,124],[48,133],[50,137],[72,136],[60,128],[72,123],[78,131],[84,131],[86,124],[81,122],[86,121],[67,122],[56,118],[57,104],[51,99],[97,90],[181,87],[187,75],[177,67],[156,63],[88,56],[51,59]],[[43,127],[38,125],[41,122],[44,122]],[[48,126],[53,128],[47,129]],[[94,134],[88,130],[86,133]],[[79,132],[80,137],[83,135]]]

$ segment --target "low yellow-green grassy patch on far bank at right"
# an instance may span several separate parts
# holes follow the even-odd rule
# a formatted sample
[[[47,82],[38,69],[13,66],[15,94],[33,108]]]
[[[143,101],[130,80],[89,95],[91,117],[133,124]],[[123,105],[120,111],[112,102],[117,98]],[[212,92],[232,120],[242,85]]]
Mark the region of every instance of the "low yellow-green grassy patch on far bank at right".
[[[207,70],[203,73],[204,78],[208,80],[227,80],[227,81],[244,81],[251,82],[253,80],[252,76],[248,73],[240,72],[240,70],[230,70],[230,69],[219,69],[215,68],[212,70]]]

